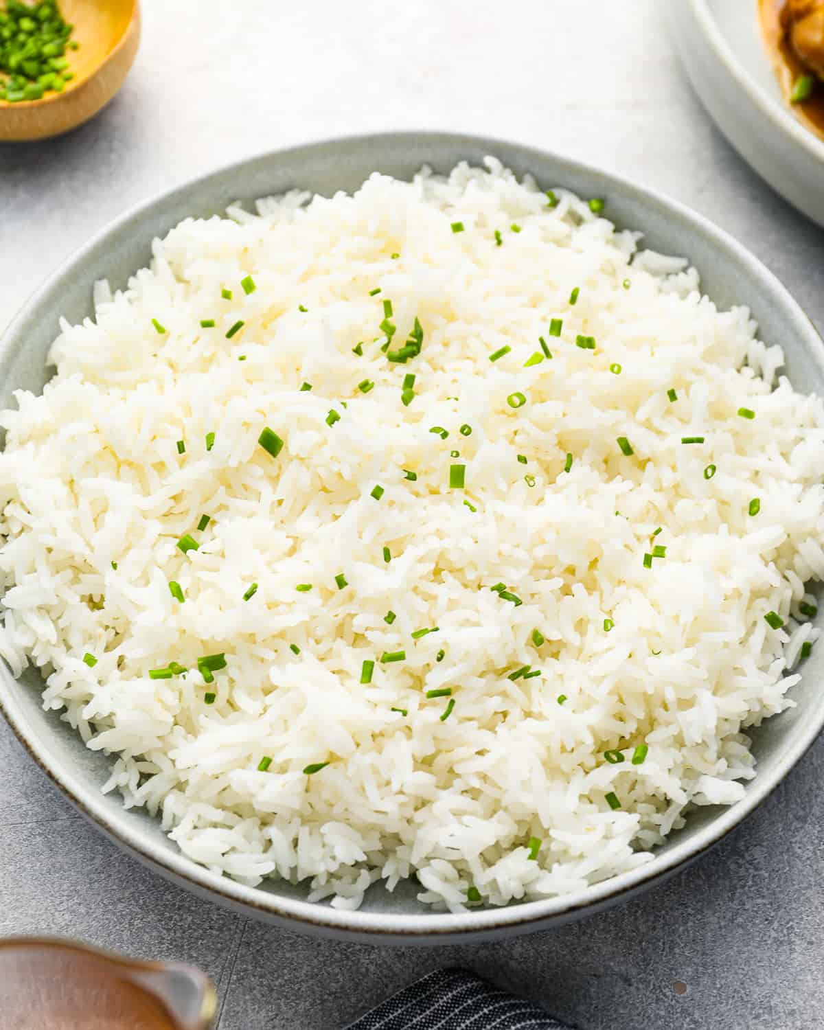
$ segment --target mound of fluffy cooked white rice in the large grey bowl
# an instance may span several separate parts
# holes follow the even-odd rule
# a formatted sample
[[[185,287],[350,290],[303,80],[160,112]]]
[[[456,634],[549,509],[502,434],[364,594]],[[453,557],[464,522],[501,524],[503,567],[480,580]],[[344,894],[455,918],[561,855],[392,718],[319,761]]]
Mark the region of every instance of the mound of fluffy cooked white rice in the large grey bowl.
[[[744,795],[742,730],[792,705],[817,636],[821,402],[686,261],[486,166],[186,219],[0,417],[0,653],[112,756],[106,790],[244,883],[354,908],[416,873],[461,911],[630,869],[688,805]],[[385,301],[391,348],[422,327],[407,364]]]

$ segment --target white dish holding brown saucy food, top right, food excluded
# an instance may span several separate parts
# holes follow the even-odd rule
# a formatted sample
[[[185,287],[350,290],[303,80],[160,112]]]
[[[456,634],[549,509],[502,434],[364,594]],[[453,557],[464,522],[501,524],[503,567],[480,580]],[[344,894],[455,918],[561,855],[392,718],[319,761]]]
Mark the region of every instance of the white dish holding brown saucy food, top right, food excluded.
[[[670,0],[673,42],[716,125],[786,200],[824,226],[824,140],[779,91],[757,0]]]

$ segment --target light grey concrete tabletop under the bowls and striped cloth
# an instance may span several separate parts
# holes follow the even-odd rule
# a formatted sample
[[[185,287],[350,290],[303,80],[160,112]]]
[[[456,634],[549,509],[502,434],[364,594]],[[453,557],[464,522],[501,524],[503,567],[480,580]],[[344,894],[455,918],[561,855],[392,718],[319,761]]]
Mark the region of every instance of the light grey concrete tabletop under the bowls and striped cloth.
[[[264,149],[425,128],[559,150],[686,202],[824,329],[824,232],[708,122],[662,2],[681,0],[143,0],[142,48],[110,107],[63,139],[0,146],[0,325],[93,232],[160,190]],[[195,962],[218,985],[220,1030],[335,1030],[446,963],[584,1030],[814,1030],[823,782],[819,742],[712,855],[607,915],[497,945],[382,950],[274,930],[168,885],[75,816],[0,723],[0,934]]]

